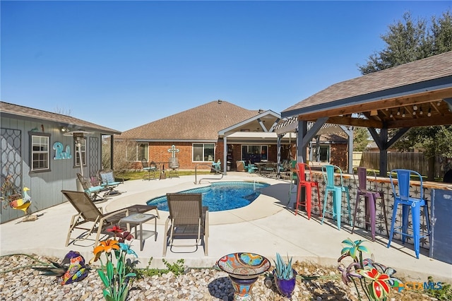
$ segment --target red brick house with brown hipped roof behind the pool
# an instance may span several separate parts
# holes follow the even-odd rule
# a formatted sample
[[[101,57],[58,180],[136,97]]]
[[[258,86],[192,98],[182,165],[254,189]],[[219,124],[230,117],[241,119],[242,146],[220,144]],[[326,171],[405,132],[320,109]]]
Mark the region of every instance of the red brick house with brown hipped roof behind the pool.
[[[235,170],[238,160],[277,162],[275,126],[279,121],[280,114],[271,110],[246,110],[215,100],[129,129],[114,138],[117,143],[137,142],[136,167],[141,167],[142,158],[164,165],[174,151],[180,169],[206,170],[220,160],[222,170],[227,171]],[[290,136],[283,136],[281,158],[287,158],[289,143]]]

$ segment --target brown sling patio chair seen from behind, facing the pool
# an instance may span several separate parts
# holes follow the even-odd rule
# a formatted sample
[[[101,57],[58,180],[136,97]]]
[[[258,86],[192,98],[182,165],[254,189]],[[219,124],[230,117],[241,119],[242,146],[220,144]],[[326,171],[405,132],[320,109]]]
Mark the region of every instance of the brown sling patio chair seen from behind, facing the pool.
[[[202,194],[167,194],[169,216],[165,222],[163,256],[167,247],[196,247],[204,241],[204,255],[208,255],[208,207],[202,205]],[[192,244],[174,244],[175,239],[196,240]]]

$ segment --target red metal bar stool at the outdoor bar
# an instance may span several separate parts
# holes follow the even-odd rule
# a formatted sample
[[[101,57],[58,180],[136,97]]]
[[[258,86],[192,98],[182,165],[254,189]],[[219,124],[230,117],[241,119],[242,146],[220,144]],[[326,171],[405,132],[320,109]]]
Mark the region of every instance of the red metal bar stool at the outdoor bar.
[[[306,179],[304,175],[304,171],[307,167],[309,169],[309,180]],[[297,185],[297,205],[295,205],[295,216],[297,215],[298,207],[304,206],[306,208],[306,212],[308,214],[308,220],[311,218],[311,192],[312,188],[315,187],[317,189],[317,205],[319,206],[319,215],[322,216],[322,207],[320,203],[320,191],[319,191],[319,182],[312,181],[312,172],[311,167],[306,163],[297,163],[297,177],[298,177],[298,185]],[[305,189],[305,199],[301,200],[301,191],[302,187]]]

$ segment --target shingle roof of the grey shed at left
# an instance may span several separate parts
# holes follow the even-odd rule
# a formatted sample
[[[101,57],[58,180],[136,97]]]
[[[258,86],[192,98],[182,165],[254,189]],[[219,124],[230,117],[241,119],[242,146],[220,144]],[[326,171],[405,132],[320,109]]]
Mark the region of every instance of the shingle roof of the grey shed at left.
[[[15,117],[19,119],[29,119],[41,122],[46,120],[48,122],[57,122],[61,126],[67,126],[73,129],[85,129],[100,131],[102,134],[120,134],[120,131],[109,129],[105,126],[85,122],[71,116],[52,113],[42,110],[33,109],[31,107],[23,107],[21,105],[14,105],[8,102],[0,102],[0,114],[4,117]]]

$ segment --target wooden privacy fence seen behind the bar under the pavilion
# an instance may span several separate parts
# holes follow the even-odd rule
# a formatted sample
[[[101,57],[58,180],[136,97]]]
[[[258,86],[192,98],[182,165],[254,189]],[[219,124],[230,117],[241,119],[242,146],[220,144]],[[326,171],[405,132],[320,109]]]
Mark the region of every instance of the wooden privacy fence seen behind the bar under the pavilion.
[[[380,153],[378,152],[353,152],[353,158],[353,166],[365,166],[374,170],[380,168]],[[435,157],[434,177],[444,176],[444,172],[441,171],[442,160],[442,156]],[[429,170],[427,158],[423,153],[388,153],[388,171],[396,168],[416,170],[421,175],[427,175]]]

